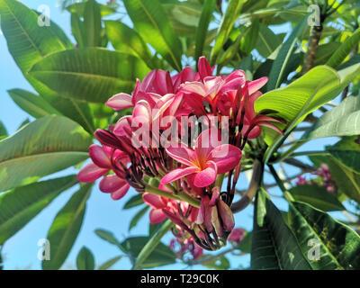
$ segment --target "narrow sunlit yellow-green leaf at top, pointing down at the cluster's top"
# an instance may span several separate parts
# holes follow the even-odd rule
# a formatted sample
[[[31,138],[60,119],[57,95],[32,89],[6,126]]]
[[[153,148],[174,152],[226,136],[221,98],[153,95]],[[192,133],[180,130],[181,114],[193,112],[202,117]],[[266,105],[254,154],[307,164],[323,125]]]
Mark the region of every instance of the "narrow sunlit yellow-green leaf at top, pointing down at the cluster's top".
[[[233,29],[240,10],[245,1],[243,0],[230,0],[228,8],[226,9],[225,14],[222,16],[220,27],[218,29],[218,34],[215,39],[215,44],[211,49],[211,65],[216,63],[217,58],[219,57],[222,46],[228,40],[229,33]]]

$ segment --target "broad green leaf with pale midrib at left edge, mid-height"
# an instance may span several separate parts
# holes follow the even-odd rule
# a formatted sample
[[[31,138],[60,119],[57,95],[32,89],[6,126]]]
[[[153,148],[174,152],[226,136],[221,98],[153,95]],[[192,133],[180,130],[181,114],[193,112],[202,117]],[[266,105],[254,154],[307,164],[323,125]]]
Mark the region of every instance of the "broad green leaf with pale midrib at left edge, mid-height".
[[[88,157],[90,135],[76,122],[49,115],[0,141],[0,191],[37,181]]]

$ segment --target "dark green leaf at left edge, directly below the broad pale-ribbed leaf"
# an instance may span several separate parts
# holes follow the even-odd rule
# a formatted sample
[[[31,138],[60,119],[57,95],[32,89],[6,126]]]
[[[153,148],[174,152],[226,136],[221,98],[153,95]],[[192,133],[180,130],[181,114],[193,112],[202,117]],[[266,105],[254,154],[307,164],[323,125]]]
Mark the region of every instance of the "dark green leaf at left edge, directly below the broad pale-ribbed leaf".
[[[76,175],[37,182],[0,195],[0,244],[11,238],[60,193],[77,183]]]

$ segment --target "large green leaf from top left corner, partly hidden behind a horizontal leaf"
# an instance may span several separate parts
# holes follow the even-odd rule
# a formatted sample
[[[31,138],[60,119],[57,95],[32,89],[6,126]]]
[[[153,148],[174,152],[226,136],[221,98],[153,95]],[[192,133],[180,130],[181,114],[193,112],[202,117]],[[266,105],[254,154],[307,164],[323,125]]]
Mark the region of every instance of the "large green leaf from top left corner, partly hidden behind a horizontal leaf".
[[[38,14],[19,1],[0,0],[1,28],[7,46],[23,75],[53,107],[80,123],[89,132],[94,124],[86,103],[62,98],[28,74],[31,67],[50,53],[74,48],[56,23],[38,24]]]

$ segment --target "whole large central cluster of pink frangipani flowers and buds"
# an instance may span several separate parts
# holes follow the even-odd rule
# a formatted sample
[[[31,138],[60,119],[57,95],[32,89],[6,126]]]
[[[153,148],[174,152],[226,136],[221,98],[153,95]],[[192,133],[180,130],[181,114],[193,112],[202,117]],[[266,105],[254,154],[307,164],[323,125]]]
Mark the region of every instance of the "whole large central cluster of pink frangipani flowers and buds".
[[[229,76],[212,71],[202,57],[196,73],[191,67],[175,76],[153,70],[132,94],[112,96],[108,106],[133,112],[95,131],[102,146],[89,148],[93,163],[78,174],[83,182],[104,175],[100,189],[115,200],[133,187],[151,206],[151,223],[168,218],[179,241],[208,250],[224,245],[234,227],[230,206],[247,140],[262,126],[282,133],[275,125],[280,120],[254,108],[266,77],[247,81],[241,70]]]

